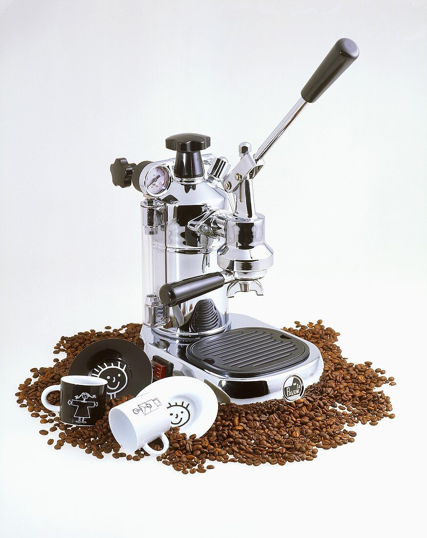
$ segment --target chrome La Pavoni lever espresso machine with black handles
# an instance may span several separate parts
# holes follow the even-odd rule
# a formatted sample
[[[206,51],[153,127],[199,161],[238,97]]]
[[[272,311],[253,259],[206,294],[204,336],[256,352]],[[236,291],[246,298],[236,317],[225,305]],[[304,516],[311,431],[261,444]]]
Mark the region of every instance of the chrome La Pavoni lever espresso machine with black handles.
[[[323,360],[315,345],[230,313],[229,299],[239,292],[262,295],[261,281],[273,265],[253,191],[264,158],[358,55],[352,40],[339,39],[259,148],[239,145],[233,168],[225,157],[205,153],[210,137],[196,133],[166,138],[174,157],[139,164],[119,158],[111,165],[114,185],[133,185],[144,195],[140,336],[155,379],[195,377],[208,383],[219,401],[237,404],[292,401],[318,381]]]

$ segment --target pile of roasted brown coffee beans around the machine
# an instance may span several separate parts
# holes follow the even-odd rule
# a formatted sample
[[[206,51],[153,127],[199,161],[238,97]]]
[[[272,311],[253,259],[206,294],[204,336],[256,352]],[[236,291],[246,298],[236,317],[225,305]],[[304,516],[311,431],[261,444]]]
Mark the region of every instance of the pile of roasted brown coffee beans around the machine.
[[[65,443],[84,449],[87,454],[101,459],[104,454],[112,457],[126,457],[139,461],[146,456],[140,449],[134,455],[120,451],[118,443],[111,434],[108,413],[111,407],[119,405],[129,397],[107,402],[105,415],[95,426],[78,427],[59,423],[55,413],[40,414],[42,409],[40,394],[46,386],[59,382],[64,376],[75,355],[84,346],[101,338],[119,337],[139,343],[141,325],[130,323],[120,329],[104,332],[86,331],[72,337],[61,337],[55,346],[55,354],[66,351],[67,357],[44,369],[32,369],[33,378],[19,386],[18,403],[27,407],[32,416],[38,417],[42,424],[52,424],[49,431],[60,430],[59,438],[48,440],[55,449]],[[390,398],[379,390],[383,385],[395,385],[393,377],[386,377],[385,370],[373,369],[372,363],[347,362],[341,356],[336,344],[339,332],[325,328],[322,320],[302,325],[295,322],[295,328],[284,330],[314,343],[322,352],[325,370],[321,379],[305,391],[304,397],[295,402],[269,400],[257,404],[219,406],[215,423],[200,438],[180,433],[172,428],[168,433],[170,447],[165,454],[158,456],[167,466],[184,475],[204,473],[213,469],[214,462],[244,463],[258,466],[263,463],[285,465],[299,461],[312,461],[318,449],[329,450],[354,442],[355,431],[346,429],[357,423],[376,426],[385,417],[394,419]],[[56,353],[58,352],[58,353]],[[59,393],[52,393],[52,403],[58,403]],[[41,430],[40,434],[48,435]],[[151,446],[161,449],[160,442]]]

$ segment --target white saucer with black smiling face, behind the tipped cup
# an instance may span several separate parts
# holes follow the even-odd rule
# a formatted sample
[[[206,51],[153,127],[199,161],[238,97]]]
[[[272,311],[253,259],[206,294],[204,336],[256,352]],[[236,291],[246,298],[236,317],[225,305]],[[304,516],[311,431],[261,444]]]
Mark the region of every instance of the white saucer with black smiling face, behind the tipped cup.
[[[173,376],[155,381],[140,394],[153,392],[167,406],[170,423],[188,436],[204,435],[215,422],[218,400],[212,389],[193,377]]]

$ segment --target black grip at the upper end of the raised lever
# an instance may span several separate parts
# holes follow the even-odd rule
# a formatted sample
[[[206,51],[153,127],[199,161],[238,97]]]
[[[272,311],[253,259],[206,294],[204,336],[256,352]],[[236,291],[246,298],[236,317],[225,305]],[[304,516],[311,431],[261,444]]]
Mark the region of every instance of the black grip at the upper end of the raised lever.
[[[359,47],[354,41],[347,38],[339,39],[301,90],[303,100],[308,103],[317,101],[358,56]]]

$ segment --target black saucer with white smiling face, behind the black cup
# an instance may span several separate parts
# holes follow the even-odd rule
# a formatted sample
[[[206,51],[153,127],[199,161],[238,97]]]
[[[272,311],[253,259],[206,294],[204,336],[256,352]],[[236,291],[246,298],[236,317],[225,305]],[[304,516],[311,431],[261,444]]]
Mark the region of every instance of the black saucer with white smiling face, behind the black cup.
[[[123,338],[104,338],[82,349],[69,376],[95,376],[108,381],[107,397],[136,396],[153,379],[151,361],[137,344]]]

